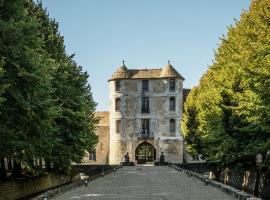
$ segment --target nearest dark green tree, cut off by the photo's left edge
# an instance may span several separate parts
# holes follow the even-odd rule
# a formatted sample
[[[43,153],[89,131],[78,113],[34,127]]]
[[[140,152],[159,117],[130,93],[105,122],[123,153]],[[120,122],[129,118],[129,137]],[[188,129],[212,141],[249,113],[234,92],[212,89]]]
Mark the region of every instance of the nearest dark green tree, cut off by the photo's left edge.
[[[14,175],[20,163],[33,167],[33,158],[43,152],[44,138],[51,129],[51,92],[55,63],[48,59],[39,36],[40,24],[27,12],[29,1],[2,1],[0,56],[4,61],[1,106],[1,157],[12,157]],[[50,66],[50,67],[48,67]]]

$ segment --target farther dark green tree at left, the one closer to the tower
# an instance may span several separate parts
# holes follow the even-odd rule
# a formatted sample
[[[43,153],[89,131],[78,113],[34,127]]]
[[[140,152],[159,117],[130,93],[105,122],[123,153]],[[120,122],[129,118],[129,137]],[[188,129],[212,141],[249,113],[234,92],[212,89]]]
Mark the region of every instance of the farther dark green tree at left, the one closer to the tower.
[[[80,162],[85,151],[97,143],[94,134],[96,103],[87,83],[88,74],[73,61],[74,55],[68,56],[65,52],[58,24],[49,18],[41,3],[31,10],[42,24],[45,49],[58,66],[52,79],[52,97],[58,113],[54,120],[55,140],[45,160],[48,167],[53,163],[55,168],[66,171],[71,162]]]

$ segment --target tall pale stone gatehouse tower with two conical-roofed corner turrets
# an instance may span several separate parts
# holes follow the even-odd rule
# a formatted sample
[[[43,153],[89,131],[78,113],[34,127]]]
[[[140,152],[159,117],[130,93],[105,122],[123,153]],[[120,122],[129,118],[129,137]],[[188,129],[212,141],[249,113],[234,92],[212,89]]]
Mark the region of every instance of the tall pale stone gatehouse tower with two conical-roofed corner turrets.
[[[128,152],[137,163],[183,162],[180,130],[184,78],[168,63],[160,69],[128,69],[109,79],[110,164]]]

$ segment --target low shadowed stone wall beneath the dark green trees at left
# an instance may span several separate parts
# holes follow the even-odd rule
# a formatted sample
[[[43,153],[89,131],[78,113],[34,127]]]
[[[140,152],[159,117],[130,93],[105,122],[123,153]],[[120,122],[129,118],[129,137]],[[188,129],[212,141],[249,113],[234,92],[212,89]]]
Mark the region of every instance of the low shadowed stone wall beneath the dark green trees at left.
[[[70,176],[48,174],[27,179],[0,182],[0,199],[14,200],[43,192],[71,181]]]

